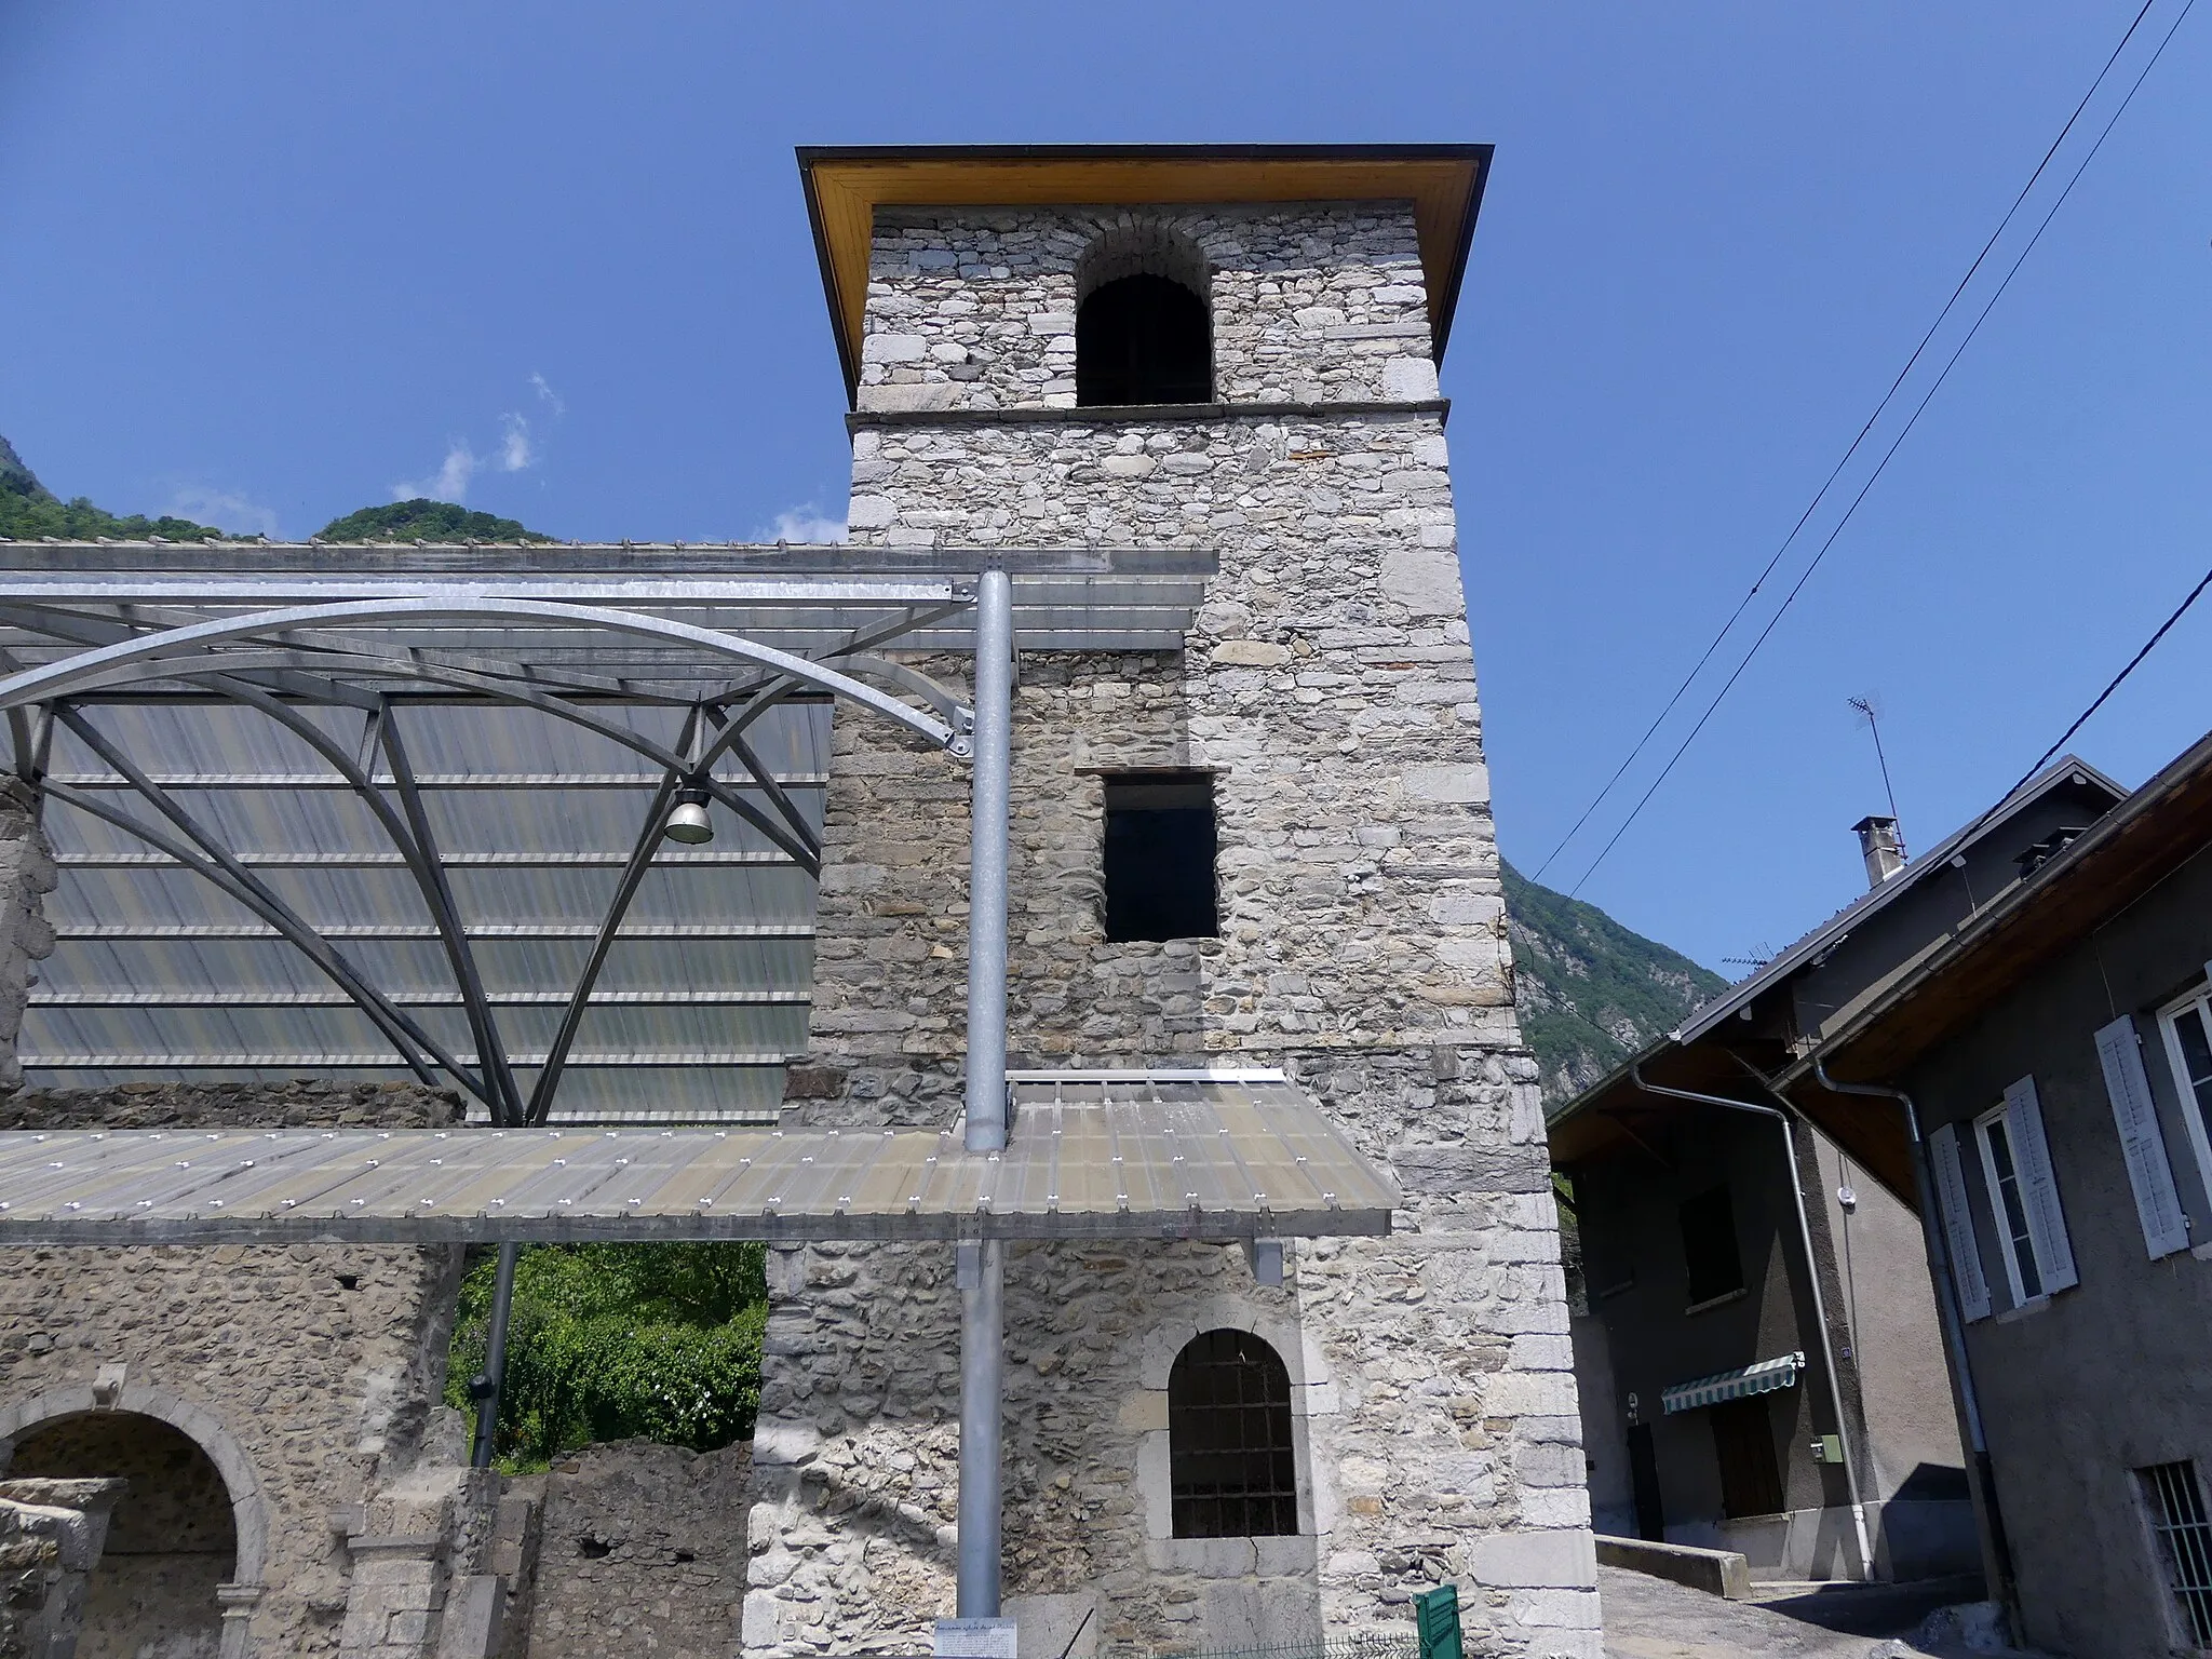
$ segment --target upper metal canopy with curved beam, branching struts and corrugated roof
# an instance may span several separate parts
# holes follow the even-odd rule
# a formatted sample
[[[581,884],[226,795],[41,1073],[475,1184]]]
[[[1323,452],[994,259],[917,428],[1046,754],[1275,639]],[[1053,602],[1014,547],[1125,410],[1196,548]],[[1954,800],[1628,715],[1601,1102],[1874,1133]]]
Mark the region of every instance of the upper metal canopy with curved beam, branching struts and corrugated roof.
[[[480,1119],[768,1121],[805,1051],[830,710],[964,759],[1024,650],[1179,648],[1212,557],[0,542],[60,889],[33,1084],[420,1077]],[[898,653],[887,657],[883,653]],[[661,825],[708,790],[714,841]]]

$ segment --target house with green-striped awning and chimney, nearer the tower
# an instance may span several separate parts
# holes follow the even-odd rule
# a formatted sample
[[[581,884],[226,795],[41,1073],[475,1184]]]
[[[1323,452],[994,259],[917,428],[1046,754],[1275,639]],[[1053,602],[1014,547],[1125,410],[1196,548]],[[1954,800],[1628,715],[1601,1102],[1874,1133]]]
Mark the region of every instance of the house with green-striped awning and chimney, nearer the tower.
[[[1756,1577],[1980,1564],[1911,1159],[1781,1079],[2124,796],[2068,757],[1911,863],[1863,821],[1867,894],[1551,1115],[1601,1533],[1736,1548]]]

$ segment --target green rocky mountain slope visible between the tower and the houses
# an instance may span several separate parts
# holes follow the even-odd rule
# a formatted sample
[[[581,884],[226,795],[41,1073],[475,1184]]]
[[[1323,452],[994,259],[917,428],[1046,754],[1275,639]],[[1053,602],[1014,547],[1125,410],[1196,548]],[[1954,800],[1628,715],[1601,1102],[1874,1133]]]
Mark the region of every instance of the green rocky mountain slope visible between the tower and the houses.
[[[1666,1035],[1728,980],[1630,933],[1595,905],[1500,860],[1513,936],[1513,1006],[1544,1073],[1544,1104],[1588,1088]]]

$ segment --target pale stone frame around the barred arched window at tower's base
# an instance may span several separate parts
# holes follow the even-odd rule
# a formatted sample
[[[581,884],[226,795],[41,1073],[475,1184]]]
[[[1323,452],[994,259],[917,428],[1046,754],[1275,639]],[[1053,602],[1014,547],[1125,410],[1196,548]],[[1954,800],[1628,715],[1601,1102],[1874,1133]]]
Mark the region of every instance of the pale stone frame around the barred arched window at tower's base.
[[[1274,1537],[1177,1537],[1175,1475],[1168,1460],[1168,1376],[1175,1358],[1203,1332],[1237,1329],[1261,1338],[1290,1371],[1290,1447],[1298,1471],[1298,1531]],[[1146,1332],[1137,1358],[1137,1396],[1130,1402],[1141,1422],[1137,1436],[1137,1498],[1144,1506],[1144,1548],[1155,1571],[1199,1577],[1281,1577],[1310,1573],[1321,1559],[1321,1533],[1334,1504],[1316,1482],[1314,1431],[1338,1411],[1336,1383],[1321,1349],[1305,1340],[1296,1310],[1267,1307],[1259,1298],[1210,1296],[1172,1321]]]

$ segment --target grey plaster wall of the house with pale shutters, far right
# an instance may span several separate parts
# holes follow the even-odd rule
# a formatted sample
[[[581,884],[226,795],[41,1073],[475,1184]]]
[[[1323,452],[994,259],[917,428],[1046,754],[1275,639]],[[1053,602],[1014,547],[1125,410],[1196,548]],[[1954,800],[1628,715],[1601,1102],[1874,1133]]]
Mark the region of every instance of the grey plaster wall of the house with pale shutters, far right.
[[[2201,989],[2212,958],[2212,858],[2199,854],[2093,940],[2035,971],[1900,1079],[1922,1121],[1971,1121],[2035,1077],[2059,1203],[2081,1283],[2011,1310],[1997,1241],[1975,1188],[1982,1270],[1995,1314],[1966,1327],[2011,1542],[2026,1639],[2112,1659],[2179,1641],[2135,1469],[2194,1458],[2212,1471],[2212,1254],[2163,1261],[2143,1248],[2093,1033],[2135,1015],[2181,1203],[2208,1237],[2203,1186],[2159,1042],[2157,1011]],[[2095,1548],[2084,1548],[2095,1540]]]

